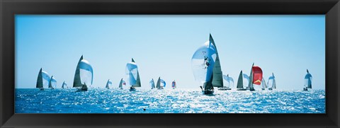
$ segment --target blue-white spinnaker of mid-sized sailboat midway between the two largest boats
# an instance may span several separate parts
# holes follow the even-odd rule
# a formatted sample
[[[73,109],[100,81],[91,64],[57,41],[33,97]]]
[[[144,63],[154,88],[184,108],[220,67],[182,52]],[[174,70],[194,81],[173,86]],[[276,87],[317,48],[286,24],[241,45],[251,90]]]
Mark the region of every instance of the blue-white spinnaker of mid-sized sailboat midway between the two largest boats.
[[[137,83],[137,64],[135,62],[129,62],[126,64],[126,74],[128,75],[128,83],[130,86]]]

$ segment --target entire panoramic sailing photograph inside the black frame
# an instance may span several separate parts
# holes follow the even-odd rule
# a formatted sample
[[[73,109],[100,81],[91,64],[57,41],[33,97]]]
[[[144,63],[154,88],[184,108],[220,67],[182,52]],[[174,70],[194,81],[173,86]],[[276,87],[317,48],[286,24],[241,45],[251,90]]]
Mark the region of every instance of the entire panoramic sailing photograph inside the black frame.
[[[326,113],[324,15],[15,21],[15,113]]]

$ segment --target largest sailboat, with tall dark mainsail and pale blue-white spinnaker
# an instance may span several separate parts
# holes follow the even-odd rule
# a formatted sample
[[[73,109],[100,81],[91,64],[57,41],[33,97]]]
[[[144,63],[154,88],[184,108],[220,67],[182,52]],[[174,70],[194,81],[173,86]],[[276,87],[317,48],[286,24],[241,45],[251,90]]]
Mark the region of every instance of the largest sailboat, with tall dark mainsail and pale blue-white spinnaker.
[[[223,87],[220,58],[214,40],[210,34],[208,42],[193,54],[191,68],[196,81],[203,83],[203,94],[214,93],[213,87]]]

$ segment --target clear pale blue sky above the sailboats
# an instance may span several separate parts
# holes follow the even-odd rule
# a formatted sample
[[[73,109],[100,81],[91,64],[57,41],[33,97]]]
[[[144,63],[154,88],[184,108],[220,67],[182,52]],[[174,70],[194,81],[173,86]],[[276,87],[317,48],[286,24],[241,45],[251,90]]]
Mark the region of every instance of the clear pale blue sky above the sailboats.
[[[237,83],[239,71],[260,66],[273,72],[278,89],[303,88],[306,69],[313,88],[325,86],[325,16],[44,16],[16,15],[16,88],[35,88],[40,68],[72,86],[81,54],[94,69],[95,87],[110,78],[118,87],[135,59],[142,88],[159,76],[170,87],[199,88],[193,53],[215,40],[223,74]],[[226,82],[225,82],[226,83]]]

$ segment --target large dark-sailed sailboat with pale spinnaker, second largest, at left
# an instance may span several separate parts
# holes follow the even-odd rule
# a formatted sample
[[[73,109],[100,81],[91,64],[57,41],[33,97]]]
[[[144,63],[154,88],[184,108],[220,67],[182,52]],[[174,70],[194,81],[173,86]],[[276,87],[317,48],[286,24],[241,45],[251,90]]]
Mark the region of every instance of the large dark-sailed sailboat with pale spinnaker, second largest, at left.
[[[77,91],[87,91],[87,86],[91,86],[93,81],[94,70],[91,64],[81,55],[74,74],[73,87],[78,88]]]

